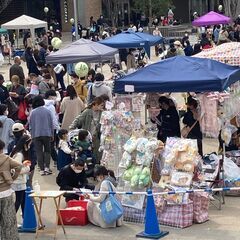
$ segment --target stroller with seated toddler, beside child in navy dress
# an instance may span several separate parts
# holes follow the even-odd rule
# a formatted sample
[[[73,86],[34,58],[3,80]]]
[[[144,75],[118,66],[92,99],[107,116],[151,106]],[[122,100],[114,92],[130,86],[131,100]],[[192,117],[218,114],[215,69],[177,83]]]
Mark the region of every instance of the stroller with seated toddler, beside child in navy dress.
[[[80,150],[77,146],[78,141],[78,133],[80,129],[75,129],[69,132],[68,134],[68,142],[69,145],[74,152],[74,159],[78,159],[79,157],[82,158],[85,162],[85,173],[87,177],[94,177],[94,167],[96,164],[96,159],[94,157],[92,150]],[[92,143],[92,135],[88,132],[88,141]]]

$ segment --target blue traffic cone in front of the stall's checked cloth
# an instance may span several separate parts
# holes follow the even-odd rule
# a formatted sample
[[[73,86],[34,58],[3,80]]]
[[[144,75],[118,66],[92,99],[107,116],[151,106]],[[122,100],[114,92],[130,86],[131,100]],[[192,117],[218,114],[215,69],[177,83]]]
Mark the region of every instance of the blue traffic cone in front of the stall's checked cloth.
[[[139,238],[159,239],[169,234],[169,232],[161,232],[157,219],[157,212],[153,199],[152,190],[148,190],[147,207],[145,212],[145,229],[136,235]]]

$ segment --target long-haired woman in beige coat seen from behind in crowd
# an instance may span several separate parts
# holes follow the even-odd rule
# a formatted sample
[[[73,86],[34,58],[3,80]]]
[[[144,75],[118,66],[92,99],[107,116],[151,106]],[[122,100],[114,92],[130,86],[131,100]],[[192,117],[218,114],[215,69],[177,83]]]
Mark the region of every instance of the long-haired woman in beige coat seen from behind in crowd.
[[[74,119],[83,111],[85,105],[77,96],[77,93],[72,85],[67,87],[67,97],[64,97],[60,106],[60,111],[63,113],[62,129],[69,130],[69,126]]]

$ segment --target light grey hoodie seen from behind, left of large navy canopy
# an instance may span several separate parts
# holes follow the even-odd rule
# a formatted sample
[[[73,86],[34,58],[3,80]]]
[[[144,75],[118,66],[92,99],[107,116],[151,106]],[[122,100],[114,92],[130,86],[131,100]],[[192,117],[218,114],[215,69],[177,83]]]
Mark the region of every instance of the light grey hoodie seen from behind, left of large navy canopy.
[[[106,94],[109,97],[109,101],[112,102],[112,90],[108,87],[105,82],[99,81],[93,83],[92,86],[88,89],[87,103],[89,104],[91,101],[91,94],[94,97],[99,97],[101,95]]]

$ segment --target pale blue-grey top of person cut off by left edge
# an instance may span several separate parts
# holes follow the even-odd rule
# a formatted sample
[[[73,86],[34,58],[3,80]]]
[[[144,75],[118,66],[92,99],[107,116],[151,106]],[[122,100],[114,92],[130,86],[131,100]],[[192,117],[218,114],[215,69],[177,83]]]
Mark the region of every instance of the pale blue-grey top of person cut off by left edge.
[[[3,127],[0,128],[0,139],[5,143],[4,153],[7,153],[8,145],[13,141],[12,126],[14,121],[5,115],[0,116],[0,122],[2,122]]]

